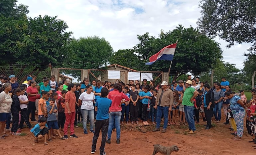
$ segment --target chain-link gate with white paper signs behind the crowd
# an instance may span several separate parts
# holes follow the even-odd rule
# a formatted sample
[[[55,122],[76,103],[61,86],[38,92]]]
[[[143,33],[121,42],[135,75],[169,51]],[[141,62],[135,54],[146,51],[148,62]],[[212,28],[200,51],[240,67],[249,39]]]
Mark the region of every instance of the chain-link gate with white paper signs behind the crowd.
[[[152,71],[138,71],[140,73],[152,73],[153,80],[156,84],[160,83],[163,80],[163,72],[152,72]],[[120,80],[122,80],[123,83],[129,83],[128,80],[128,74],[129,71],[120,71]],[[101,81],[110,81],[115,82],[118,79],[110,79],[108,78],[108,70],[88,70],[88,78],[90,82],[92,80],[101,80]],[[138,79],[143,80],[143,79]]]

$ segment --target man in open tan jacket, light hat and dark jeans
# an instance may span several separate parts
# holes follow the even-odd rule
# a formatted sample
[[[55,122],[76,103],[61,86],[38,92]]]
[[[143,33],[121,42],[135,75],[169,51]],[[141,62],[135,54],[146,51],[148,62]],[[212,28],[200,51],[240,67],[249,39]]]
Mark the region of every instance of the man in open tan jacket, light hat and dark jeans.
[[[156,97],[156,104],[155,108],[157,109],[157,125],[156,128],[152,131],[160,131],[160,123],[161,123],[161,116],[164,114],[164,127],[162,133],[166,132],[167,124],[168,124],[168,112],[172,111],[173,105],[173,91],[169,88],[168,82],[163,81],[161,83],[162,88],[158,90],[157,97]]]

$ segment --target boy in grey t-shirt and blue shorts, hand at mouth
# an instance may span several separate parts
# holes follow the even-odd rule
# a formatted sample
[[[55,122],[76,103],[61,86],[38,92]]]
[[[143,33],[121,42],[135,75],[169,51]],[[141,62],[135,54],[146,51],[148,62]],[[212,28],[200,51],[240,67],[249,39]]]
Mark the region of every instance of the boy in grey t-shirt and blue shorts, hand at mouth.
[[[58,120],[57,120],[57,106],[55,105],[55,98],[50,99],[50,104],[47,106],[47,112],[48,112],[48,118],[47,118],[47,125],[49,129],[49,137],[51,136],[51,129],[56,129],[59,139],[65,140],[65,138],[61,135],[61,132],[59,130],[58,126]],[[47,139],[48,141],[53,141],[52,138]]]

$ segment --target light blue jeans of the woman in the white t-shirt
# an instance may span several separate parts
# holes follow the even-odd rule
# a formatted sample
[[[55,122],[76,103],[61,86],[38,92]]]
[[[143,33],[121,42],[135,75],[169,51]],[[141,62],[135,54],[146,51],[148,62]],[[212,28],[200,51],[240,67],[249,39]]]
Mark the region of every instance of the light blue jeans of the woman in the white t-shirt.
[[[93,128],[94,128],[94,109],[92,109],[92,110],[81,109],[81,114],[83,116],[83,130],[87,131],[86,123],[87,123],[88,114],[90,117],[90,130],[93,130]]]

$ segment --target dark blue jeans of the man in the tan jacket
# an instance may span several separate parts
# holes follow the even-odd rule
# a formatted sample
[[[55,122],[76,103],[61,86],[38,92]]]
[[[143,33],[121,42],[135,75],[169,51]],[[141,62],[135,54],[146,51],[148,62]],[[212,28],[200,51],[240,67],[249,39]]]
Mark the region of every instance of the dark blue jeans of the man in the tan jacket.
[[[169,112],[169,107],[162,107],[162,106],[157,106],[157,126],[156,128],[160,128],[160,123],[161,123],[161,117],[162,114],[164,114],[164,129],[167,128],[168,124],[168,112]]]

